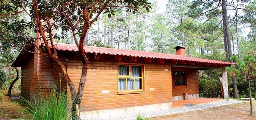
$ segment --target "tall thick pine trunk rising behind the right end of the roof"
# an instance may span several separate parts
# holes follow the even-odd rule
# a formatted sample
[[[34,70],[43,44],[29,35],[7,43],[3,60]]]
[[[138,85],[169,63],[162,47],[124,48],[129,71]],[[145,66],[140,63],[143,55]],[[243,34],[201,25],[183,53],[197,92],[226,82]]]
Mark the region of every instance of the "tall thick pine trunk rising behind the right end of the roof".
[[[229,62],[232,62],[230,57],[232,56],[231,51],[231,43],[230,43],[230,36],[229,36],[229,28],[228,28],[228,16],[227,16],[227,9],[226,9],[226,0],[222,0],[222,17],[223,17],[223,29],[224,29],[224,45],[226,51],[226,57],[228,58]],[[238,89],[236,85],[236,76],[232,76],[233,87],[234,87],[234,98],[238,99]]]

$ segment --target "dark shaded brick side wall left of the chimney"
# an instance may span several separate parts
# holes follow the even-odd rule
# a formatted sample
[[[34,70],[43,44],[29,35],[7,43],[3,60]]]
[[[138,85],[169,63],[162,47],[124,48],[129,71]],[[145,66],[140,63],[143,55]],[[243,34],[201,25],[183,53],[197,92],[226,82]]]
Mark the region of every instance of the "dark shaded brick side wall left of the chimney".
[[[20,95],[25,99],[30,99],[30,85],[33,75],[34,56],[28,59],[28,63],[21,69],[21,91]]]

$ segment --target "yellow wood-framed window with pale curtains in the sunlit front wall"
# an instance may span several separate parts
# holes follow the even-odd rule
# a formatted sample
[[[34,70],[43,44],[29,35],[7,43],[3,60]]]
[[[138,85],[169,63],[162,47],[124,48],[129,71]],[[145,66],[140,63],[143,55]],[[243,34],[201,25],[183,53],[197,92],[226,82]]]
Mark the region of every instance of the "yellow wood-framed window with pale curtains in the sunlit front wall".
[[[143,91],[144,65],[118,64],[118,91]]]

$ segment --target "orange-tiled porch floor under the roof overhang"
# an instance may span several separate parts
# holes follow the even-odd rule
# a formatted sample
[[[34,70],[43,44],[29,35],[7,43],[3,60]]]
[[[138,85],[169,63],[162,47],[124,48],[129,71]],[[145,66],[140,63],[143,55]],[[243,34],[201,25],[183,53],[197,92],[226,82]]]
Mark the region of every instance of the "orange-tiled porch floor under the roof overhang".
[[[200,97],[200,98],[194,98],[194,99],[188,99],[188,100],[172,101],[172,108],[208,104],[208,103],[214,103],[214,102],[220,102],[220,101],[226,101],[226,99]]]

